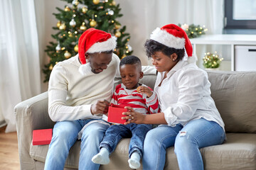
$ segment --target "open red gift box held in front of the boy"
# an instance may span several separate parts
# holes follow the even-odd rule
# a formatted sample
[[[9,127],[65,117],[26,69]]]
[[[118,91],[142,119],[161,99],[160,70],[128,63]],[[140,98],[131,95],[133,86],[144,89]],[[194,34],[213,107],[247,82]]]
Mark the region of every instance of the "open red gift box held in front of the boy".
[[[123,108],[121,106],[112,105],[109,107],[107,114],[107,121],[109,123],[120,123],[124,124],[127,120],[122,120],[122,117],[126,115],[122,115],[123,112],[127,112],[128,109]]]

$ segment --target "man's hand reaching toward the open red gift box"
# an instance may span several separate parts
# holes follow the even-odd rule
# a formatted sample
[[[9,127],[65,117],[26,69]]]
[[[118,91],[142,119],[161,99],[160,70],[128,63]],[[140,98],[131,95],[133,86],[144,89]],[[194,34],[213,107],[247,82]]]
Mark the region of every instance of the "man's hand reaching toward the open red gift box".
[[[95,114],[107,114],[110,102],[106,100],[98,100],[97,103],[91,106],[92,115]]]

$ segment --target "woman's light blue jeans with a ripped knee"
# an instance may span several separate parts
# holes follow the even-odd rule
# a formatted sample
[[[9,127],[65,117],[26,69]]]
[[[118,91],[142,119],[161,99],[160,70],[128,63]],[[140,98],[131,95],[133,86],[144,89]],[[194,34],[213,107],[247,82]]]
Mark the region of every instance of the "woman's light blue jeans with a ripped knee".
[[[143,169],[164,169],[166,149],[174,147],[181,170],[203,169],[200,148],[220,145],[225,132],[218,123],[203,118],[191,120],[184,127],[161,125],[150,130],[144,141]]]

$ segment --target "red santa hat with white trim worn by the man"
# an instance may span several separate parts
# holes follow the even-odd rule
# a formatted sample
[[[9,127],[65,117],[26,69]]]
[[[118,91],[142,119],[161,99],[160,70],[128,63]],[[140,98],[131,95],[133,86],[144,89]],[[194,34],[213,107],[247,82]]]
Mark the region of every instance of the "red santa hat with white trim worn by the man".
[[[107,52],[114,50],[117,46],[117,38],[110,33],[95,28],[85,30],[78,40],[78,55],[81,62],[79,71],[85,70],[89,63],[86,63],[85,53]],[[85,73],[82,73],[85,74]]]

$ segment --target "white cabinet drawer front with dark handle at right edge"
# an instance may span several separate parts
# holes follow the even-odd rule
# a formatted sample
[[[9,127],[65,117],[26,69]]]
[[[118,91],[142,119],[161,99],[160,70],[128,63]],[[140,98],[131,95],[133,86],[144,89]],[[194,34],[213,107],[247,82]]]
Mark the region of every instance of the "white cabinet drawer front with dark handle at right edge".
[[[235,45],[235,71],[256,71],[256,45]]]

